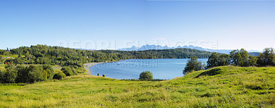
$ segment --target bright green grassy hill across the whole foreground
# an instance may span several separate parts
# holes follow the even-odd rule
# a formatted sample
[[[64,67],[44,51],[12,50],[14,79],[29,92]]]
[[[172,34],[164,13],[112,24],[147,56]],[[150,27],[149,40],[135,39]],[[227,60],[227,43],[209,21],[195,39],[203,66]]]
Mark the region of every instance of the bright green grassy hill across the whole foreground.
[[[275,68],[221,66],[169,81],[90,75],[0,85],[0,107],[274,107]]]

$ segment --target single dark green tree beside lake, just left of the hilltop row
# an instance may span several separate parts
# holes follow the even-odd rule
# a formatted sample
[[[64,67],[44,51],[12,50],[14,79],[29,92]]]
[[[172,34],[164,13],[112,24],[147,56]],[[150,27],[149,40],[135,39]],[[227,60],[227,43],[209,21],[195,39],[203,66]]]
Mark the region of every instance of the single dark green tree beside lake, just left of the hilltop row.
[[[197,57],[193,56],[191,59],[188,59],[183,74],[186,75],[187,72],[201,70],[202,68],[201,62],[197,60]]]

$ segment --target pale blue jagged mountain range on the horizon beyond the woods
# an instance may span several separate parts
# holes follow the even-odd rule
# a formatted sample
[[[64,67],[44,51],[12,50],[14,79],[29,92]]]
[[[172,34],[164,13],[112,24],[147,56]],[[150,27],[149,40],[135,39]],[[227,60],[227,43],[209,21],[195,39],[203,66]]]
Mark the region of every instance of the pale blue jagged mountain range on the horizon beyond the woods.
[[[150,50],[150,49],[177,49],[177,48],[186,48],[186,49],[197,49],[199,51],[209,51],[209,52],[217,52],[217,53],[225,53],[225,54],[229,54],[230,51],[232,50],[228,50],[228,49],[203,49],[199,46],[173,46],[173,47],[169,47],[169,46],[160,46],[160,45],[155,45],[155,44],[146,44],[141,46],[140,48],[137,46],[131,46],[131,48],[123,48],[123,49],[118,49],[118,51],[145,51],[145,50]],[[248,51],[248,53],[250,53],[250,55],[254,55],[257,56],[259,55],[261,51],[255,51],[255,50],[250,50]]]

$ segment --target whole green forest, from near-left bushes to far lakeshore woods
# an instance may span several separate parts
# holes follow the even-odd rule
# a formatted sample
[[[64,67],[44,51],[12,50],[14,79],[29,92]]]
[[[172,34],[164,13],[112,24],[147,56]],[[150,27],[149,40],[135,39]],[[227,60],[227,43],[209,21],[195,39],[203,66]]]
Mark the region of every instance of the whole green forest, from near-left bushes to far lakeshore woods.
[[[207,58],[207,51],[195,49],[165,49],[147,51],[88,51],[61,46],[21,46],[0,50],[0,83],[34,83],[85,73],[83,64],[115,62],[120,59]],[[53,68],[57,66],[57,68]]]

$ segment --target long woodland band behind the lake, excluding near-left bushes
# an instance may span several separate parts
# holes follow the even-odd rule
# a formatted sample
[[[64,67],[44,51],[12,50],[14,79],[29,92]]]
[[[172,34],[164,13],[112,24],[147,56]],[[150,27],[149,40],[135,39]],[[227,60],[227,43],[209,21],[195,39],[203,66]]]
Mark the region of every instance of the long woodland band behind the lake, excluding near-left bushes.
[[[15,59],[7,59],[5,62],[14,64],[51,64],[61,66],[78,66],[87,62],[118,61],[120,59],[158,59],[158,58],[190,58],[196,56],[207,58],[211,55],[207,51],[195,49],[165,49],[147,51],[87,51],[80,49],[69,49],[60,46],[21,46],[17,49],[1,50],[0,55],[18,55]],[[24,56],[24,57],[23,57]],[[25,61],[24,61],[25,60]]]

